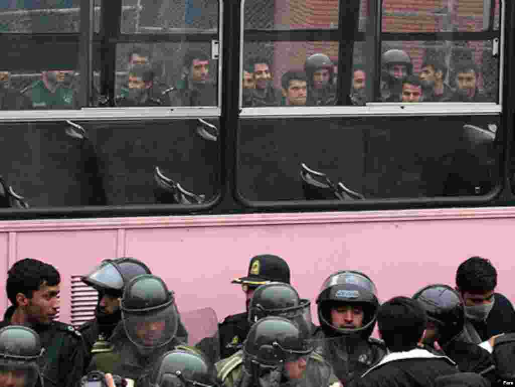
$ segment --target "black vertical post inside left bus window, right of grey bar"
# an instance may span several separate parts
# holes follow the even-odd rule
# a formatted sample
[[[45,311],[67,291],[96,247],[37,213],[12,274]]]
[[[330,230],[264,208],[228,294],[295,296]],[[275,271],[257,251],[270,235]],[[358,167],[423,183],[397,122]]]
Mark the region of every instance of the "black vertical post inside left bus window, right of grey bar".
[[[120,33],[122,18],[122,0],[110,0],[102,2],[100,8],[100,83],[102,95],[114,103],[116,80],[116,43],[111,41]]]

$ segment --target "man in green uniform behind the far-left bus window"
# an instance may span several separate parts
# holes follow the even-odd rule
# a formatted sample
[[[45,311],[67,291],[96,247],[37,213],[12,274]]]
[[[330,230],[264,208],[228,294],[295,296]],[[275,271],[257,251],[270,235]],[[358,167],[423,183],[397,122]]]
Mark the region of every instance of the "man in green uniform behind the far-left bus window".
[[[33,109],[77,109],[77,93],[64,70],[43,71],[41,79],[21,91],[31,100]]]

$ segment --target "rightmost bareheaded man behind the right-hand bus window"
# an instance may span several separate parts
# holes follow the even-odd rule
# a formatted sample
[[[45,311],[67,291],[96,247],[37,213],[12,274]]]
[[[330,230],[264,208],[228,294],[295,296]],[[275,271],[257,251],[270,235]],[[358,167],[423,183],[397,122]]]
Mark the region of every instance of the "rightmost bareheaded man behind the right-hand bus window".
[[[472,60],[458,63],[454,69],[456,92],[451,102],[488,102],[485,94],[478,89],[479,72]]]

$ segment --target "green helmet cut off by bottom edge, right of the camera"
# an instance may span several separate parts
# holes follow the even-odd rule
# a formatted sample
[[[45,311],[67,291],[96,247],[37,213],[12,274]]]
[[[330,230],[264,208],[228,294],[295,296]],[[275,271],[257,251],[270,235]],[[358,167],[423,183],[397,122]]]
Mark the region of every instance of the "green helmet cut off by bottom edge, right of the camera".
[[[213,367],[200,354],[173,350],[158,360],[150,375],[152,387],[214,387]]]

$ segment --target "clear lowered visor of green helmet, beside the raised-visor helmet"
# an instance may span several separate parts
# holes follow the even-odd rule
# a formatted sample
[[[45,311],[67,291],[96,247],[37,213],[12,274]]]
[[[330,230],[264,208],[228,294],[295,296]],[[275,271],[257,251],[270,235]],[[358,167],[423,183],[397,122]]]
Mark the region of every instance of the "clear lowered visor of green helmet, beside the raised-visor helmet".
[[[177,333],[177,309],[173,303],[159,311],[122,311],[122,320],[127,337],[140,349],[152,350],[162,347],[174,339]]]

